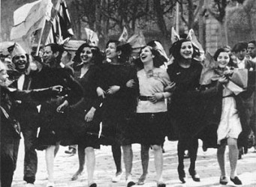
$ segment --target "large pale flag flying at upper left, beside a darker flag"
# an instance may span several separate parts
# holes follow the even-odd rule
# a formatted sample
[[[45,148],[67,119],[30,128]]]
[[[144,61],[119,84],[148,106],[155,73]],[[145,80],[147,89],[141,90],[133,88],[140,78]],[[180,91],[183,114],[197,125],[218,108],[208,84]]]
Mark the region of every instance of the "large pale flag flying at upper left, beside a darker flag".
[[[39,0],[15,10],[11,40],[20,43],[26,52],[30,52],[33,34],[44,28],[46,20],[50,20],[52,7],[50,0]]]

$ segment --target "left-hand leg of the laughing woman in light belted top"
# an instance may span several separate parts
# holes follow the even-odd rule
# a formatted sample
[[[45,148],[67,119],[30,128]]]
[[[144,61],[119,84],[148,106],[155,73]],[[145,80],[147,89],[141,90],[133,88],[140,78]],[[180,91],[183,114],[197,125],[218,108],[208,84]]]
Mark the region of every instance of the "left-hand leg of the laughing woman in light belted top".
[[[140,147],[140,158],[143,174],[140,176],[138,184],[143,185],[149,168],[149,145],[141,144]]]

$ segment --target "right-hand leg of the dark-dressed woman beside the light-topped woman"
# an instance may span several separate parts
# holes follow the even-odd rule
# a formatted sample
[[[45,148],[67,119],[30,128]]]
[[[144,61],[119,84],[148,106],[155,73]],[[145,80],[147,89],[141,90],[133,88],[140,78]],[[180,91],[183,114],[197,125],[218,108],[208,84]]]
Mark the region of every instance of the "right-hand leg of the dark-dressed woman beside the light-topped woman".
[[[123,145],[122,151],[124,154],[123,158],[125,162],[125,179],[127,180],[128,177],[131,176],[131,168],[132,168],[133,153],[131,149],[131,144]]]

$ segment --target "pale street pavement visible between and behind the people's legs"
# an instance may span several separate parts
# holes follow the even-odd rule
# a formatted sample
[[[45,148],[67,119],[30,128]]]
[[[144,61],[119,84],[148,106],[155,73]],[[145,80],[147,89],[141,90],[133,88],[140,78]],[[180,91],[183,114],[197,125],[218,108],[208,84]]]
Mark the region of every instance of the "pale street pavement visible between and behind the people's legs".
[[[187,183],[182,184],[179,181],[177,174],[177,141],[165,141],[164,143],[164,182],[167,183],[167,187],[195,187],[195,186],[221,186],[219,182],[220,171],[218,168],[218,162],[216,159],[216,150],[208,149],[203,152],[200,142],[198,148],[198,156],[196,162],[197,173],[200,174],[200,182],[194,182],[188,174],[189,159],[185,159],[185,173],[187,175]],[[65,153],[68,147],[60,147],[59,153],[55,159],[54,174],[56,179],[56,187],[87,187],[86,171],[78,180],[71,181],[71,177],[78,169],[78,157],[77,154],[69,156]],[[140,145],[134,144],[134,162],[133,162],[133,179],[137,182],[140,174],[142,174],[142,168],[140,163]],[[227,149],[228,150],[228,149]],[[103,146],[101,150],[96,150],[96,167],[95,167],[95,183],[98,187],[125,187],[125,174],[122,175],[122,180],[119,183],[112,183],[111,178],[116,173],[116,168],[113,162],[113,156],[111,147]],[[155,167],[154,156],[152,150],[150,150],[149,160],[149,174],[145,181],[145,184],[141,187],[155,187]],[[23,140],[20,142],[20,150],[17,162],[17,170],[14,174],[13,187],[23,187],[25,183],[23,181],[23,158],[24,158],[24,146]],[[227,174],[230,174],[230,165],[228,162],[227,154]],[[86,168],[86,167],[85,167]],[[123,171],[125,171],[122,162]],[[86,170],[86,169],[85,169]],[[245,187],[256,187],[256,153],[254,149],[248,150],[248,153],[242,156],[237,163],[237,174],[242,180],[242,184]],[[228,177],[229,178],[229,177]],[[38,173],[36,176],[35,186],[45,187],[47,185],[47,170],[44,159],[44,151],[38,151]],[[227,183],[227,187],[233,186],[232,182]]]

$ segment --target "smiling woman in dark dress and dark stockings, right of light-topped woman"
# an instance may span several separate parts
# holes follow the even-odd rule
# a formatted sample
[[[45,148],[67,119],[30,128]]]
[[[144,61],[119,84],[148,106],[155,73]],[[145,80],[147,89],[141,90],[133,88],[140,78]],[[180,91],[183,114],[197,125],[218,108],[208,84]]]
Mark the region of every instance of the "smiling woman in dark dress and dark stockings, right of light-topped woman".
[[[170,102],[170,115],[175,119],[176,128],[179,133],[178,142],[178,173],[179,180],[185,183],[184,152],[190,154],[189,174],[194,181],[199,182],[200,177],[195,171],[197,159],[198,141],[194,137],[197,129],[197,95],[202,65],[193,58],[199,55],[190,40],[179,40],[173,43],[173,64],[170,64],[167,73],[171,82],[176,82],[176,89],[173,91]]]

